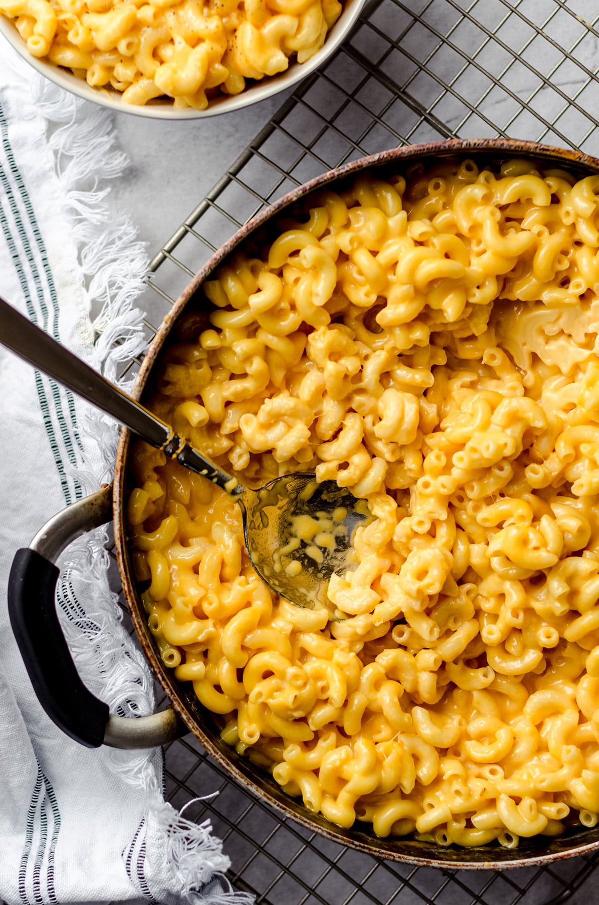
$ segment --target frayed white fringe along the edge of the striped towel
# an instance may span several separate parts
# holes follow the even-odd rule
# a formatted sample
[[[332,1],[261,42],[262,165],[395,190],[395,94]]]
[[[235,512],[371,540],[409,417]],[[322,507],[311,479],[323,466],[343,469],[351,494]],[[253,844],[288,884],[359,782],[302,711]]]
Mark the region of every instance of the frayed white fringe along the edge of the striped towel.
[[[33,80],[33,100],[48,126],[82,276],[90,298],[100,306],[90,313],[91,364],[115,381],[125,363],[147,345],[143,313],[135,304],[145,287],[146,245],[138,241],[128,216],[115,217],[104,200],[109,193],[105,180],[120,176],[128,157],[116,147],[116,131],[104,110],[57,92],[41,76]],[[82,329],[89,326],[83,324]],[[128,378],[120,385],[130,386],[131,382]],[[84,490],[92,492],[113,472],[117,433],[114,423],[94,410],[82,418],[81,429],[98,444],[102,473],[91,472],[83,461],[73,472]],[[122,625],[117,595],[109,590],[107,541],[107,530],[98,529],[70,548],[59,587],[65,616],[62,623],[73,658],[90,689],[101,689],[112,712],[133,717],[152,712],[154,691],[147,663]],[[71,581],[93,586],[93,611],[82,612]],[[162,850],[158,857],[166,859],[173,876],[171,895],[176,891],[179,901],[193,905],[252,905],[253,896],[233,891],[223,877],[231,862],[223,854],[221,840],[212,835],[210,821],[191,823],[162,799],[159,748],[138,755],[111,749],[106,752],[106,762],[146,791],[147,819],[157,827]]]

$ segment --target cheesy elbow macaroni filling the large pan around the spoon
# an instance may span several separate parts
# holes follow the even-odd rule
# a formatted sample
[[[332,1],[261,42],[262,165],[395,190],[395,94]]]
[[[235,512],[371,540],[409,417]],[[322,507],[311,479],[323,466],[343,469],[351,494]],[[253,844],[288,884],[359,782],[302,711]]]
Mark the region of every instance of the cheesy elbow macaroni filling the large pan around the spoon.
[[[149,627],[223,738],[335,824],[594,826],[599,176],[449,159],[346,185],[204,282],[152,404],[252,486],[367,500],[338,618],[273,595],[236,503],[138,443]]]

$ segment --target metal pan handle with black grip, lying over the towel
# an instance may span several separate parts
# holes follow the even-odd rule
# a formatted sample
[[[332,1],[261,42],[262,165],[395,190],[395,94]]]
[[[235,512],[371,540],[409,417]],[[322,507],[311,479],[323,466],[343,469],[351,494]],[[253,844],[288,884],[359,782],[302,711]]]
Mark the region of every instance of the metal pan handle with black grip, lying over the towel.
[[[8,580],[8,613],[33,691],[50,719],[87,748],[156,748],[186,729],[174,710],[119,717],[83,684],[62,634],[54,601],[56,559],[72,540],[111,518],[104,487],[50,519],[31,546],[17,550]]]

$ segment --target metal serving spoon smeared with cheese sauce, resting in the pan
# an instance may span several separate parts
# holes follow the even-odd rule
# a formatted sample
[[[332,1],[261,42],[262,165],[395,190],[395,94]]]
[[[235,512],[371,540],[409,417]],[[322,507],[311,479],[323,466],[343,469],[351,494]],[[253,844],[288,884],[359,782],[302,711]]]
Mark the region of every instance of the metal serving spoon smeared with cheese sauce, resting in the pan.
[[[2,297],[0,343],[168,458],[222,487],[239,503],[245,547],[266,584],[292,604],[324,605],[334,617],[340,615],[328,600],[328,580],[353,564],[354,531],[372,518],[365,500],[334,481],[319,484],[313,474],[276,478],[258,491],[244,487]]]

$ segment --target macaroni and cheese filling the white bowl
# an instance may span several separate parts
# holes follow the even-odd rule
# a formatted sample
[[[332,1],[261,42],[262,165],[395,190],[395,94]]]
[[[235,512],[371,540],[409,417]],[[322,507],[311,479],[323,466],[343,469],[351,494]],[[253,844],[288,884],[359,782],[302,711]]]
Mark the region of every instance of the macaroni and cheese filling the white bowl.
[[[309,60],[340,13],[338,0],[0,0],[33,56],[129,104],[196,110]]]

